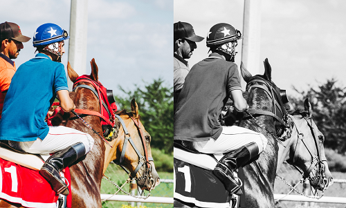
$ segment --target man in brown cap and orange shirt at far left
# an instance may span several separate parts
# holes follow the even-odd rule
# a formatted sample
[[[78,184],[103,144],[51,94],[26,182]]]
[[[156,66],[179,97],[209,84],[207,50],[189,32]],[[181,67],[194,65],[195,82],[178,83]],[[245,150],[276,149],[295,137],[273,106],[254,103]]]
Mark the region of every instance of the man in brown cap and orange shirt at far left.
[[[0,24],[0,119],[6,93],[16,72],[15,62],[11,59],[17,59],[19,51],[24,48],[22,43],[30,39],[21,35],[21,29],[16,23],[6,21]]]

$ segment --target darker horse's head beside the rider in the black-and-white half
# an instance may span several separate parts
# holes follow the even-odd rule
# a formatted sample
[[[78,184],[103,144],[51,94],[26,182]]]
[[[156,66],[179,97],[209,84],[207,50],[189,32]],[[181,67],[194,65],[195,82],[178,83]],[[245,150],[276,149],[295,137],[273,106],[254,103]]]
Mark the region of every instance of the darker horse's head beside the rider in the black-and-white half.
[[[288,102],[286,93],[280,90],[275,83],[271,80],[271,65],[268,59],[264,61],[264,75],[251,75],[246,70],[244,64],[240,66],[242,77],[246,82],[246,98],[249,109],[249,113],[252,115],[268,115],[262,117],[268,124],[268,130],[274,131],[277,136],[282,136],[287,129],[287,113],[284,104]],[[273,122],[273,124],[271,124]]]

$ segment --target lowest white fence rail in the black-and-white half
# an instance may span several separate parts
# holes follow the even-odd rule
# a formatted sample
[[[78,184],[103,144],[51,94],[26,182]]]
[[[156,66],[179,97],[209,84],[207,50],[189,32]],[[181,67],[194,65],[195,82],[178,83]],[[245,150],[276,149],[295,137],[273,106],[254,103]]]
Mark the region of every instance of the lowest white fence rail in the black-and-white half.
[[[300,196],[300,195],[286,196],[286,194],[274,194],[274,199],[275,200],[281,199],[280,201],[294,201],[294,202],[322,202],[322,203],[346,204],[346,198],[330,197],[330,196],[323,196],[320,199],[316,199],[316,198],[307,198],[306,196]]]

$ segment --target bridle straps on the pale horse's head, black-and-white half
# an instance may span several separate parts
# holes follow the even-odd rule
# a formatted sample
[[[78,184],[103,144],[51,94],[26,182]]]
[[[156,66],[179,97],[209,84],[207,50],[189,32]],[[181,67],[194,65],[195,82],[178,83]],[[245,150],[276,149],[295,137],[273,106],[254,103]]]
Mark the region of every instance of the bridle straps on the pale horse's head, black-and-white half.
[[[302,114],[300,114],[302,115]],[[304,117],[302,115],[302,118],[304,118],[304,120],[307,122],[307,125],[309,126],[309,129],[311,131],[311,135],[313,136],[313,141],[315,142],[315,146],[316,146],[316,151],[317,151],[317,155],[313,154],[312,151],[309,149],[309,147],[307,146],[307,144],[304,141],[304,134],[301,133],[298,129],[298,126],[295,124],[295,117],[293,117],[293,115],[289,115],[289,117],[291,117],[291,119],[293,120],[293,125],[295,126],[295,129],[297,130],[298,133],[298,140],[295,144],[295,148],[294,148],[294,156],[293,156],[293,162],[292,165],[293,167],[295,167],[295,169],[297,169],[300,174],[302,174],[303,179],[305,180],[306,178],[309,179],[310,181],[313,180],[318,180],[318,182],[320,182],[320,180],[323,180],[322,184],[325,185],[325,187],[323,187],[323,191],[325,190],[326,186],[327,186],[327,182],[325,182],[325,180],[327,180],[325,178],[325,164],[323,163],[324,161],[327,160],[321,160],[322,155],[321,155],[321,151],[318,147],[318,141],[316,138],[315,133],[313,132],[313,126],[312,126],[312,117]],[[309,166],[309,168],[307,169],[306,173],[304,173],[300,168],[298,168],[294,163],[298,160],[298,149],[300,144],[304,144],[305,148],[307,149],[307,151],[309,152],[309,154],[311,155],[311,164]],[[311,171],[313,170],[313,168],[316,167],[316,165],[318,165],[319,169],[318,169],[318,173],[315,176],[310,176]]]

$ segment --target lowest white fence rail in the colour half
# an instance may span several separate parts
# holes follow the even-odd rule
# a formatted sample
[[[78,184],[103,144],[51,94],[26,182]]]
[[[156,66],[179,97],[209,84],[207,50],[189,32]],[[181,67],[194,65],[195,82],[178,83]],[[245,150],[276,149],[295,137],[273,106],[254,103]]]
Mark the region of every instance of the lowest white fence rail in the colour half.
[[[107,199],[113,194],[101,194],[101,200]],[[107,199],[108,201],[121,201],[121,202],[145,202],[145,203],[161,203],[161,204],[173,204],[173,198],[170,197],[155,197],[149,196],[147,199],[134,198],[132,196],[115,195]]]

